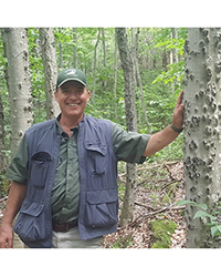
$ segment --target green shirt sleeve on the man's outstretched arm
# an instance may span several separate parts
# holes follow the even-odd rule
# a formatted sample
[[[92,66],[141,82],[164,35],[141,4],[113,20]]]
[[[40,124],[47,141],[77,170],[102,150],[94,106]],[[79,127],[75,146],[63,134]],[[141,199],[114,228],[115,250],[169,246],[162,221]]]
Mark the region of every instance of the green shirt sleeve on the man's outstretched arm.
[[[118,124],[113,124],[113,147],[118,161],[127,163],[145,162],[143,156],[150,135],[136,132],[126,132]]]

